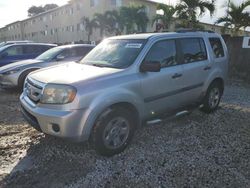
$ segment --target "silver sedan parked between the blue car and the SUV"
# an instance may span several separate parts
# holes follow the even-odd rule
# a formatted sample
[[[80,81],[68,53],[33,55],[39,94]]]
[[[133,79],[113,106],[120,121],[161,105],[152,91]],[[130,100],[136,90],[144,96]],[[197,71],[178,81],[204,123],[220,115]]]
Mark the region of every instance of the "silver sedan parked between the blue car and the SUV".
[[[2,87],[23,87],[26,76],[41,68],[59,65],[69,61],[79,61],[95,46],[74,44],[52,48],[35,59],[19,61],[0,67],[0,85]]]

